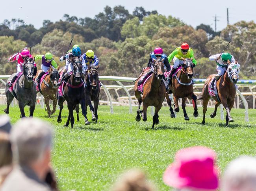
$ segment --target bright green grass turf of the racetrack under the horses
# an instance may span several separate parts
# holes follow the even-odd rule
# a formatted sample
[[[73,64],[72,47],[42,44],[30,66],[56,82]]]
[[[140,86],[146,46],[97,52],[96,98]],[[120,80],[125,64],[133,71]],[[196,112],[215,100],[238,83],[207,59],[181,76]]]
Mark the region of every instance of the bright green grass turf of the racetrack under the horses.
[[[3,111],[5,106],[1,105]],[[162,182],[166,167],[173,162],[177,150],[189,146],[208,146],[218,155],[221,171],[230,160],[239,155],[256,155],[256,110],[249,109],[250,122],[245,123],[244,109],[232,109],[235,122],[225,127],[219,112],[210,118],[209,108],[206,125],[202,126],[202,108],[194,118],[193,108],[187,107],[190,121],[184,121],[183,113],[170,118],[169,109],[160,110],[160,124],[152,130],[152,117],[148,109],[148,121],[135,121],[135,111],[129,114],[128,107],[99,106],[98,124],[85,126],[83,116],[74,128],[63,127],[67,119],[67,107],[63,110],[63,121],[56,122],[58,111],[47,117],[40,106],[34,116],[49,121],[55,129],[52,163],[56,169],[59,188],[63,191],[109,190],[120,173],[137,167],[143,169],[158,190],[168,190]],[[2,112],[4,113],[4,112]],[[10,107],[11,122],[19,119],[19,108]],[[28,115],[28,107],[26,107]],[[91,119],[91,115],[88,115]]]

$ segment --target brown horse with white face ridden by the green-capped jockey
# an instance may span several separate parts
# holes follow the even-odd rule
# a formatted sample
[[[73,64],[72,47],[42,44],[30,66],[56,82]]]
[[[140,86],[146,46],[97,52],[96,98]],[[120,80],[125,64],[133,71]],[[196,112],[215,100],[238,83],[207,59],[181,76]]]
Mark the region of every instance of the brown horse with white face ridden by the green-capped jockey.
[[[234,63],[229,62],[228,60],[228,68],[224,75],[222,75],[219,80],[216,82],[216,88],[218,91],[219,99],[221,102],[219,102],[216,98],[216,96],[213,96],[213,99],[215,102],[215,109],[214,112],[210,115],[211,118],[214,118],[216,116],[217,108],[220,104],[223,105],[223,107],[226,109],[226,126],[228,126],[228,122],[234,122],[232,117],[230,116],[231,108],[234,105],[234,99],[236,96],[236,87],[235,84],[238,80],[238,72],[239,69],[237,68],[236,64],[237,61]],[[205,124],[205,113],[207,111],[207,105],[210,100],[210,95],[208,91],[209,83],[213,78],[215,78],[216,75],[210,75],[208,78],[206,78],[206,81],[204,82],[202,97],[198,98],[198,100],[203,100],[203,120],[202,124]]]

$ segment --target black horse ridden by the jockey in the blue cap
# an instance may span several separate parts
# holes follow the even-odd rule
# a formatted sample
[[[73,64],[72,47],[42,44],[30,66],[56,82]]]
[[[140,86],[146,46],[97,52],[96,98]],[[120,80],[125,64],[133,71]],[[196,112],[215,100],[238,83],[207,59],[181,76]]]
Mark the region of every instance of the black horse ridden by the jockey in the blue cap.
[[[81,57],[82,58],[82,57]],[[71,122],[71,127],[74,127],[74,115],[73,110],[76,108],[77,104],[81,104],[82,113],[85,117],[85,125],[90,124],[85,111],[85,87],[82,80],[82,60],[78,58],[69,58],[70,62],[73,64],[73,73],[67,82],[63,82],[63,96],[59,96],[59,92],[57,91],[57,99],[59,105],[59,116],[57,118],[57,122],[60,123],[61,119],[61,111],[63,109],[63,102],[67,101],[67,106],[69,109],[69,116],[67,122],[65,124],[66,127],[69,126],[69,122]],[[60,87],[61,88],[61,87]]]

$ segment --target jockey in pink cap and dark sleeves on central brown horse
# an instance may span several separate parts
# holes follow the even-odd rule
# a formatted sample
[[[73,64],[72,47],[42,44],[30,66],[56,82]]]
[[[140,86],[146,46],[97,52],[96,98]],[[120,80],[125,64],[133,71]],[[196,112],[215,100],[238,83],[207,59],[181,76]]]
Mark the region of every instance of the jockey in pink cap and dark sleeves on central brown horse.
[[[160,48],[160,47],[157,47],[156,49],[154,49],[154,52],[151,52],[150,53],[150,58],[148,60],[148,67],[150,67],[152,61],[153,61],[153,58],[155,60],[162,60],[164,58],[164,61],[163,61],[163,64],[165,65],[166,67],[166,70],[167,71],[170,71],[171,70],[171,67],[170,67],[170,64],[169,64],[169,61],[167,59],[167,56],[165,54],[163,54],[163,49]],[[143,76],[141,78],[141,80],[139,80],[138,84],[137,85],[141,85],[145,79],[148,78],[148,76],[150,76],[152,74],[152,71],[151,72],[148,72],[145,76]],[[167,85],[168,86],[168,85]]]

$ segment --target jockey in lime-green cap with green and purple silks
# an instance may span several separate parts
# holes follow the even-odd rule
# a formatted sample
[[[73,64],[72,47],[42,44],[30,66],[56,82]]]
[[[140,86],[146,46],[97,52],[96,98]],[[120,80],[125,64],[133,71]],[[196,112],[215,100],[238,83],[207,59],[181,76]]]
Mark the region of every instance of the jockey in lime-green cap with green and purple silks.
[[[57,68],[58,65],[55,62],[55,60],[52,57],[52,53],[46,53],[45,55],[36,55],[35,56],[35,62],[37,60],[41,60],[42,64],[41,64],[41,73],[37,76],[37,78],[35,79],[35,81],[39,84],[41,77],[48,71],[48,69],[50,68],[50,65],[52,65],[52,67]]]

